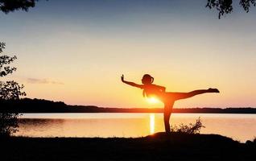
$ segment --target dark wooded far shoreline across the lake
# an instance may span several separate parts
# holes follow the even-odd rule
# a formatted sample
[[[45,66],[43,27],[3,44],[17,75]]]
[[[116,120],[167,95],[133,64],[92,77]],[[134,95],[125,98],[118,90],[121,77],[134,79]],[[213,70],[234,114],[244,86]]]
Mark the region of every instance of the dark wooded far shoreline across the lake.
[[[256,108],[185,108],[173,109],[173,113],[210,114],[256,114]],[[62,101],[23,98],[20,100],[0,100],[0,113],[163,113],[156,108],[104,108],[94,105],[66,105]]]

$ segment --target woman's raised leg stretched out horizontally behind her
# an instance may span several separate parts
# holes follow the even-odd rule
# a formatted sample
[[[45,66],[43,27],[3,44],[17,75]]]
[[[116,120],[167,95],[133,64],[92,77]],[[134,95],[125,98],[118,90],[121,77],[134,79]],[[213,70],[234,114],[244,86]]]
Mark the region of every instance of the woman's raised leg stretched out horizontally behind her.
[[[171,93],[172,95],[171,97],[174,97],[175,100],[180,100],[180,99],[193,97],[203,93],[220,93],[220,91],[218,89],[200,89],[200,90],[194,90],[190,93]]]

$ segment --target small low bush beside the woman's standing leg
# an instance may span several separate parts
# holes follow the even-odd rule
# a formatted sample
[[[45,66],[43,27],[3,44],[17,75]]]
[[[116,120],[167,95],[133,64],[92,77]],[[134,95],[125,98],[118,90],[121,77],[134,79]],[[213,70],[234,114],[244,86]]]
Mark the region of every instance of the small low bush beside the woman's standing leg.
[[[197,118],[195,124],[189,123],[189,125],[180,124],[180,126],[171,126],[171,131],[186,134],[200,134],[201,128],[204,127],[200,118]]]

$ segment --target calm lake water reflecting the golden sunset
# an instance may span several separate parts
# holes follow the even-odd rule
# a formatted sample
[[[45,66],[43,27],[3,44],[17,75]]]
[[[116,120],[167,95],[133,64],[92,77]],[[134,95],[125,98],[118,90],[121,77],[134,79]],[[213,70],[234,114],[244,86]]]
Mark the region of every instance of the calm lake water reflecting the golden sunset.
[[[256,137],[255,114],[172,114],[171,125],[201,118],[202,134],[221,134],[246,142]],[[163,114],[23,114],[16,136],[140,137],[164,131]]]

